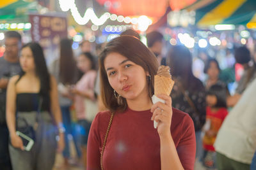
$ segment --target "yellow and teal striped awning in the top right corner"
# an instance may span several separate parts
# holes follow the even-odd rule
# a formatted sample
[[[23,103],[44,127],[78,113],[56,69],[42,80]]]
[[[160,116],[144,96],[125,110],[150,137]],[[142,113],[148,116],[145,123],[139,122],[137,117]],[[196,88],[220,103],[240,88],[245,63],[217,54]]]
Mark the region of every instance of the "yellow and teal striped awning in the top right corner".
[[[198,26],[216,24],[256,26],[256,0],[201,0],[187,8],[195,10]]]

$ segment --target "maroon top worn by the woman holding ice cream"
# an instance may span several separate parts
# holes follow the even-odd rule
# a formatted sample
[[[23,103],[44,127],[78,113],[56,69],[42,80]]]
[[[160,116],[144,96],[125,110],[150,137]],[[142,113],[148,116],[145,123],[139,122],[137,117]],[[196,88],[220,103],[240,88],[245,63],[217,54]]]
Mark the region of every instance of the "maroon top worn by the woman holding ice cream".
[[[87,146],[87,169],[100,169],[100,152],[111,113],[100,112],[93,120]],[[127,108],[115,113],[103,154],[104,170],[161,169],[160,139],[150,110]],[[195,130],[188,114],[173,108],[171,134],[184,169],[195,162]]]

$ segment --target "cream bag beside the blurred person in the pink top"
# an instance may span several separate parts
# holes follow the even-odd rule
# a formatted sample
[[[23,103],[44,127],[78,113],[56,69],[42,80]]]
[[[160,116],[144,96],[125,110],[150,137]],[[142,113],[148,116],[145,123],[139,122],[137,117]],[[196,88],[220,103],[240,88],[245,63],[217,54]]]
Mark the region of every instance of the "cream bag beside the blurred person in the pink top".
[[[84,98],[85,106],[85,118],[89,122],[92,122],[98,113],[98,103],[97,101],[92,101],[91,99]]]

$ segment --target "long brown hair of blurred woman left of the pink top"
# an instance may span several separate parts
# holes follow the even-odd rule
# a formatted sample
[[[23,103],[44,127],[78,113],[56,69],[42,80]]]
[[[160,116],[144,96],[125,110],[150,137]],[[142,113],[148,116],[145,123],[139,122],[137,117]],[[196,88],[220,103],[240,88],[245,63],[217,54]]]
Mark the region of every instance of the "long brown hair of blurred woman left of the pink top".
[[[72,40],[68,38],[60,41],[60,81],[63,84],[73,84],[77,81],[76,60],[72,50]]]

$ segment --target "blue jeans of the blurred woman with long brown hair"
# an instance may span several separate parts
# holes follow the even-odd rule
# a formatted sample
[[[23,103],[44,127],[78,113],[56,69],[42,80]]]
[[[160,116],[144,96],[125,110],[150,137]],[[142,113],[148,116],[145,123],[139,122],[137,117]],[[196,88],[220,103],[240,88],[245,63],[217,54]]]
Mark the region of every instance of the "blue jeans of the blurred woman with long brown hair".
[[[80,148],[79,148],[79,146],[77,146],[77,138],[75,136],[76,134],[74,131],[72,131],[72,123],[71,123],[71,118],[70,118],[70,106],[61,106],[61,113],[62,113],[63,125],[66,129],[66,131],[65,131],[65,148],[63,150],[63,157],[65,157],[65,158],[70,157],[68,134],[71,134],[73,136],[77,156],[81,157]]]

